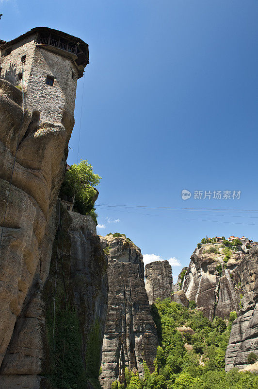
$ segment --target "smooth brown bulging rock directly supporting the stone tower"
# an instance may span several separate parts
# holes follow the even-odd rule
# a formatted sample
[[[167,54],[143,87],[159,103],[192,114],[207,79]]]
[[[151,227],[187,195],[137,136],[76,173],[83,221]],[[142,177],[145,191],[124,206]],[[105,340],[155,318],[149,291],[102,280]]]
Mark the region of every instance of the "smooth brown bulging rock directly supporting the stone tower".
[[[33,283],[48,275],[53,237],[46,235],[46,226],[64,176],[72,128],[39,126],[27,111],[23,117],[21,91],[0,79],[0,364]]]

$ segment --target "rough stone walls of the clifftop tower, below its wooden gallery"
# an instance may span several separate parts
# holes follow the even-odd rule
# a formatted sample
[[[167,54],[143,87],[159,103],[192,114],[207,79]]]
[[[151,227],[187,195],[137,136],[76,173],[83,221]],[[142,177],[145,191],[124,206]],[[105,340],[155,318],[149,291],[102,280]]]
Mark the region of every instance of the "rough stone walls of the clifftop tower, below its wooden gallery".
[[[37,44],[37,34],[30,35],[11,46],[10,54],[1,53],[1,77],[22,87],[18,74],[24,63],[25,107],[32,114],[40,113],[40,122],[61,122],[64,113],[72,120],[75,106],[78,69],[75,54],[48,45]],[[47,76],[54,77],[54,85],[46,84]]]

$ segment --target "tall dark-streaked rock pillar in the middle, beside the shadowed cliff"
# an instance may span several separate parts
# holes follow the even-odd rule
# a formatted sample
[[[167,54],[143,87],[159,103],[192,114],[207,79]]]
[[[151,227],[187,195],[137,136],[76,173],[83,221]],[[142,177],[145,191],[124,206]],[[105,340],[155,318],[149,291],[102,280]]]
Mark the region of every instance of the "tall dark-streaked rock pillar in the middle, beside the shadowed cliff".
[[[109,389],[117,378],[125,381],[125,367],[136,368],[142,374],[145,360],[153,371],[158,337],[145,290],[141,250],[124,237],[107,235],[100,239],[109,262],[100,383]]]

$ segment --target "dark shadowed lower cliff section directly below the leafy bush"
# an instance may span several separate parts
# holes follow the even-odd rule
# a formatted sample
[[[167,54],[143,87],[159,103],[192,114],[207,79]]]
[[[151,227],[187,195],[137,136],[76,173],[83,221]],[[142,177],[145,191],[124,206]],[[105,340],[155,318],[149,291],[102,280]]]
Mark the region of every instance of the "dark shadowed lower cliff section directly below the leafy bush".
[[[27,296],[0,369],[1,388],[97,383],[107,311],[107,259],[89,216],[57,204],[46,282]],[[55,233],[53,234],[55,236]],[[93,383],[93,384],[92,384]],[[43,386],[44,387],[44,386]],[[46,386],[48,388],[48,386]]]

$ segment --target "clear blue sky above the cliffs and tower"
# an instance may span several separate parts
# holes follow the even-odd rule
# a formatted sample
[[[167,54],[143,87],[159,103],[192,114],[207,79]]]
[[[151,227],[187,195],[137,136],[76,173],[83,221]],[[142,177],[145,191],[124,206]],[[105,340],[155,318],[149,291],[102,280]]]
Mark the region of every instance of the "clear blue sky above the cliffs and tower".
[[[4,40],[48,26],[89,44],[79,158],[103,177],[100,234],[125,233],[144,254],[157,256],[146,260],[176,258],[182,266],[206,235],[258,240],[257,212],[218,211],[258,209],[256,0],[5,0],[0,6]],[[77,162],[82,89],[80,79],[69,164]],[[193,194],[186,201],[183,189]],[[241,196],[194,199],[194,191],[205,190]],[[179,270],[173,266],[174,276]]]

